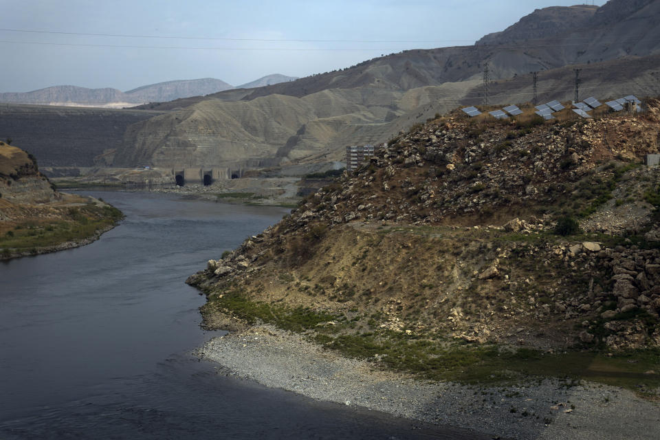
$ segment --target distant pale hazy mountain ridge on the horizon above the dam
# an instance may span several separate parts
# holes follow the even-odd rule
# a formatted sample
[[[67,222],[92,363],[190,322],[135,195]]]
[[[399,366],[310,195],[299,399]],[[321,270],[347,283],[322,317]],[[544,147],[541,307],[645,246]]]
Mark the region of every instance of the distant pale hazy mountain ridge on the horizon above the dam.
[[[259,87],[275,84],[278,81],[295,79],[280,74],[268,75],[247,83],[241,88]],[[164,83],[144,85],[129,91],[118,89],[87,89],[73,85],[46,87],[25,93],[0,93],[0,102],[19,102],[23,104],[59,104],[84,107],[131,107],[145,102],[172,101],[190,96],[203,96],[235,87],[215,78],[197,80],[173,80]]]

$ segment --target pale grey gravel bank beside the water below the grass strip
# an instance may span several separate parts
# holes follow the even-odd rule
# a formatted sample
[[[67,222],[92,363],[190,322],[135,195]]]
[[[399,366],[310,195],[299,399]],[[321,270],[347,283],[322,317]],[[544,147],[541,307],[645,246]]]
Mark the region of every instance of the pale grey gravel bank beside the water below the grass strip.
[[[251,327],[197,352],[224,374],[307,397],[514,439],[657,439],[660,406],[600,384],[465,386],[414,380],[343,358],[296,333]],[[487,438],[487,437],[486,437]]]

